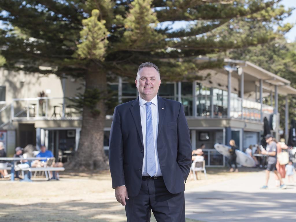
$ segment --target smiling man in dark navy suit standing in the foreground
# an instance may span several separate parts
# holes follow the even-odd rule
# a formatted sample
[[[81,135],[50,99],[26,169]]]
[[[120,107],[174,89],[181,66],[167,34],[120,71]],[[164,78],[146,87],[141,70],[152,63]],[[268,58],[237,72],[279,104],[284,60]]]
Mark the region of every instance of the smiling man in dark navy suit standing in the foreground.
[[[115,107],[109,163],[115,197],[128,222],[185,222],[191,140],[181,103],[157,96],[158,67],[139,66],[136,100]]]

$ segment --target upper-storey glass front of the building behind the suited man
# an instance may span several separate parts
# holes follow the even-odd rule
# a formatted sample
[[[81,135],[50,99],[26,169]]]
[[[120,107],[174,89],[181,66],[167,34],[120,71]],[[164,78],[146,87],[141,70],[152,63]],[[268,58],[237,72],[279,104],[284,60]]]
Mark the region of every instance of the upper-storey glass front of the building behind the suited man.
[[[129,102],[137,98],[134,82],[117,81],[108,83],[111,95],[107,115],[112,115],[117,104]],[[228,118],[228,92],[226,90],[204,86],[197,82],[162,82],[158,95],[180,101],[186,116],[197,118]],[[230,117],[260,121],[261,105],[258,102],[242,100],[238,94],[231,93]],[[263,113],[272,114],[273,107],[264,104]]]

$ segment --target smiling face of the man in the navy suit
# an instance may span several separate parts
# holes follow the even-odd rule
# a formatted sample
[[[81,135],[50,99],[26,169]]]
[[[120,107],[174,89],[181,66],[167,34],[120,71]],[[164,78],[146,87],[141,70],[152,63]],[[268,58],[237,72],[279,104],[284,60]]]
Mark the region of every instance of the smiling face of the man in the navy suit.
[[[141,68],[139,71],[139,79],[136,79],[136,86],[140,97],[149,102],[157,95],[160,82],[159,73],[155,68]]]

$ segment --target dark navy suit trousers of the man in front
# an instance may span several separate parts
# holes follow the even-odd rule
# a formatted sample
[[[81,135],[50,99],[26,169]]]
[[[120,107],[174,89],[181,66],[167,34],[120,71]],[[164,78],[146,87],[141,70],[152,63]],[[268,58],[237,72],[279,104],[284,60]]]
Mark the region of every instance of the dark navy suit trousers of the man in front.
[[[142,178],[138,196],[126,200],[127,222],[150,222],[151,210],[157,222],[185,222],[184,192],[168,192],[163,177]]]

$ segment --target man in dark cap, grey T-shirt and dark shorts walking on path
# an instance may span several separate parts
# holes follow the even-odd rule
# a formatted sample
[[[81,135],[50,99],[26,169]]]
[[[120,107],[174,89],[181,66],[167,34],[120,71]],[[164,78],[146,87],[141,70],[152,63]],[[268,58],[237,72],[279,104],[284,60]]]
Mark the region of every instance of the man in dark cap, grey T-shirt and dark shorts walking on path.
[[[286,189],[287,186],[283,183],[281,175],[276,170],[276,161],[277,161],[277,159],[276,159],[276,153],[277,153],[276,142],[272,141],[271,134],[267,134],[265,136],[265,140],[266,140],[266,143],[267,143],[266,150],[262,150],[261,153],[264,154],[264,155],[267,155],[268,160],[267,160],[267,168],[266,168],[266,183],[265,183],[264,186],[261,187],[261,189],[267,189],[268,188],[267,184],[268,184],[268,180],[269,180],[270,171],[274,171],[276,176],[279,177],[279,181],[281,182],[280,188],[281,189]]]

